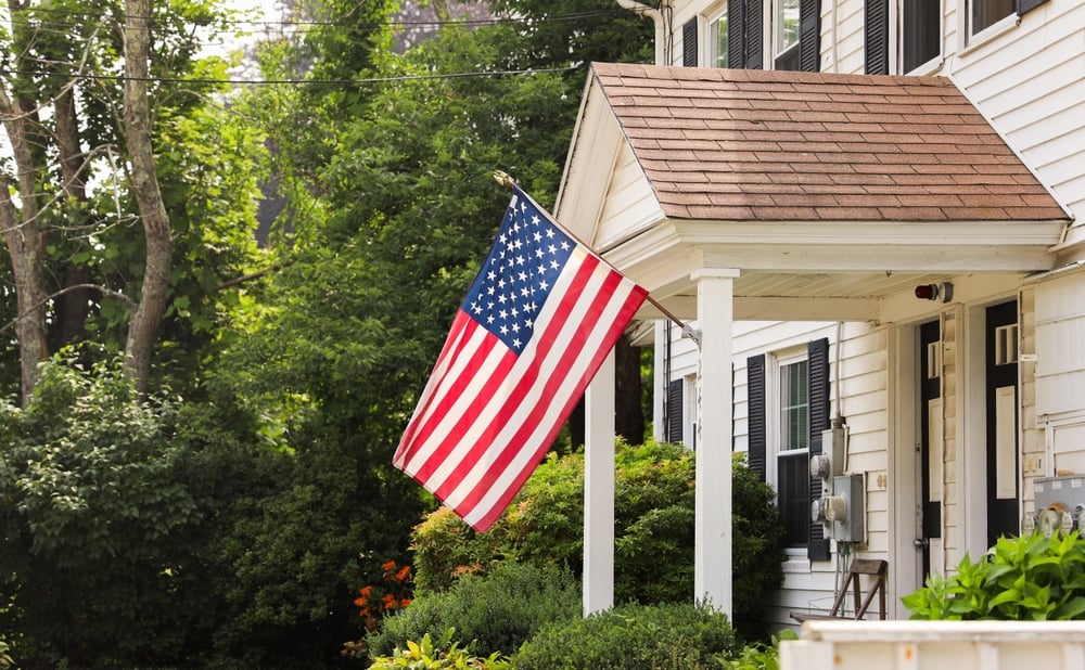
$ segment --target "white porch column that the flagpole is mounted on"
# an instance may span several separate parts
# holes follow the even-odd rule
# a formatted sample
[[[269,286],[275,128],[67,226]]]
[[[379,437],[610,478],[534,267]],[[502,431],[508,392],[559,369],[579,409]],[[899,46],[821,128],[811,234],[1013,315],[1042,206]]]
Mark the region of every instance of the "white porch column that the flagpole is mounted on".
[[[731,616],[731,327],[738,270],[694,270],[701,328],[697,375],[693,590]]]

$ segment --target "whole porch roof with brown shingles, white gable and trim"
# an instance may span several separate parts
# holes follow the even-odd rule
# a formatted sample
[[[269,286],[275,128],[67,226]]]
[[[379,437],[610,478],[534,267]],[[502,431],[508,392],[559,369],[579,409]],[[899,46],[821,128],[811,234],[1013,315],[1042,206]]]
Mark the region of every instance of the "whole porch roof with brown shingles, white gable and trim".
[[[1069,221],[947,78],[609,63],[556,214],[658,299],[730,268],[738,301],[768,298],[761,318],[850,305],[819,320],[877,318],[871,300],[959,273],[1049,270]]]

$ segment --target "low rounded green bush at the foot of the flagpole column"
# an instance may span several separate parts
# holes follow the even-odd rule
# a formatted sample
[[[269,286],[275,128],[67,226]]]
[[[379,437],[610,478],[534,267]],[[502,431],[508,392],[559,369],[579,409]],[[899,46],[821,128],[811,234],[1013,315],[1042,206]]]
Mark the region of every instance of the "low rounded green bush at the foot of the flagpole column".
[[[620,605],[544,627],[515,656],[519,670],[718,668],[735,654],[727,617],[702,604]]]

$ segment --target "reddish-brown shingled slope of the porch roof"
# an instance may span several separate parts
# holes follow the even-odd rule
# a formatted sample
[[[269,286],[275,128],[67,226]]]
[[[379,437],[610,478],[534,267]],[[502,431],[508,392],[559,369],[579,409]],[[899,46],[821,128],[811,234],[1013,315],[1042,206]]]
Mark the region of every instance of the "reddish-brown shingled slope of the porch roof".
[[[671,218],[1067,218],[943,77],[592,69]]]

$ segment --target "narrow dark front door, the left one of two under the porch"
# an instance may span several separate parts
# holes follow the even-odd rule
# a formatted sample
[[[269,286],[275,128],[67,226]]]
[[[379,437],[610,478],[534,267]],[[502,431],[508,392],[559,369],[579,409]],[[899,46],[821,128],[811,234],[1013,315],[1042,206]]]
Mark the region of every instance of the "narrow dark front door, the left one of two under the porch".
[[[923,575],[944,569],[942,561],[942,337],[937,321],[919,326],[919,525],[916,545],[923,552]]]

